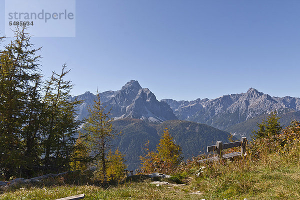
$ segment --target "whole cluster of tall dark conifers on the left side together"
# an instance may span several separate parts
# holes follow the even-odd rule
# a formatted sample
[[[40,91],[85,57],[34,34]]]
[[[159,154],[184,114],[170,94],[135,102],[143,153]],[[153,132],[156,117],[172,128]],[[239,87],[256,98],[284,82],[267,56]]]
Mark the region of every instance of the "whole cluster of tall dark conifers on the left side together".
[[[25,27],[0,49],[0,176],[32,177],[70,169],[77,128],[66,65],[42,82],[39,59]],[[0,38],[1,41],[2,38]]]

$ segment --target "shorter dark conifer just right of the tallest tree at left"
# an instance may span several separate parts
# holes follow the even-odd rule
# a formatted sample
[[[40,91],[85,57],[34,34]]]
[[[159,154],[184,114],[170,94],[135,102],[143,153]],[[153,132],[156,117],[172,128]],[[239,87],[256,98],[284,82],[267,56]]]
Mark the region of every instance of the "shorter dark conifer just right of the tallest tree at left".
[[[64,80],[69,70],[52,72],[44,87],[41,115],[42,168],[44,172],[67,170],[73,160],[76,134],[82,121],[76,120],[75,106],[81,101],[69,100],[72,84]]]

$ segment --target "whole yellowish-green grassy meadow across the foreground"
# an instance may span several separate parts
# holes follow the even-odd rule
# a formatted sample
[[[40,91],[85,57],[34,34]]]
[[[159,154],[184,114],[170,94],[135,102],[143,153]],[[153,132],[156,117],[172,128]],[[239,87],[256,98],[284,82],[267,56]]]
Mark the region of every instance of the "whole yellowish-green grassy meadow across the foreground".
[[[198,170],[201,166],[205,168]],[[197,177],[195,173],[201,170]],[[283,159],[275,153],[258,160],[194,164],[188,171],[162,180],[185,185],[156,186],[149,178],[134,176],[108,188],[67,184],[23,187],[2,192],[0,199],[56,199],[80,193],[85,193],[84,199],[300,199],[297,159]]]

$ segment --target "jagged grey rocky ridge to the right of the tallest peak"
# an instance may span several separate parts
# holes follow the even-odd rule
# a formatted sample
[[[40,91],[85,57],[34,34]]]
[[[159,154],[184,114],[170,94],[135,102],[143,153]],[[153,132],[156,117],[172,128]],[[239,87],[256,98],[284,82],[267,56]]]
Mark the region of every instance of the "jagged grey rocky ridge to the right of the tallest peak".
[[[220,129],[272,110],[300,111],[300,98],[271,97],[254,88],[249,88],[246,93],[227,94],[210,100],[198,98],[191,101],[161,101],[168,103],[181,120],[205,123]]]

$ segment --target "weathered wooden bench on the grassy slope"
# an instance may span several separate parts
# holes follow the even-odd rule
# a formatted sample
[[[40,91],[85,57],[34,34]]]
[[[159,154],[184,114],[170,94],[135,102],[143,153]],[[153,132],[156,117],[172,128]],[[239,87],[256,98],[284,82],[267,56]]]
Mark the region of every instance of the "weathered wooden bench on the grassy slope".
[[[220,160],[222,158],[227,159],[235,156],[244,156],[246,152],[246,143],[247,143],[246,137],[242,137],[240,141],[234,141],[234,142],[229,142],[224,144],[221,141],[217,141],[216,145],[207,146],[207,152],[215,151],[217,153],[217,156],[201,159],[198,162],[214,161],[214,160]],[[223,155],[222,152],[223,149],[233,148],[237,146],[240,146],[240,152],[232,152]]]

